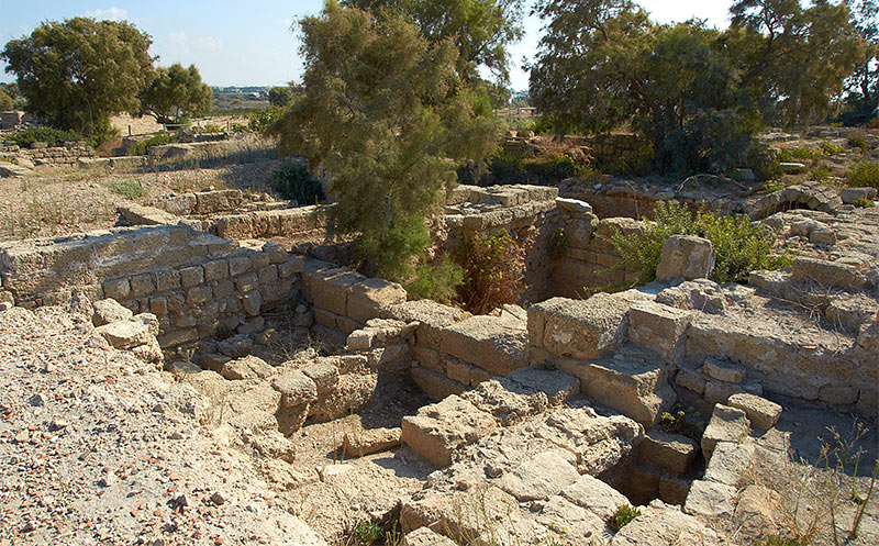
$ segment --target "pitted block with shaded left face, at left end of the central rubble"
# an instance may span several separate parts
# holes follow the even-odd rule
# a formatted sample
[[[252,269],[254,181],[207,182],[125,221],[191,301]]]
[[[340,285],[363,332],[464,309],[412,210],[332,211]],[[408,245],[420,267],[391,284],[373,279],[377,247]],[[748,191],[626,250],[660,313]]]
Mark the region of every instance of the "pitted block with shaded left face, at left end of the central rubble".
[[[404,416],[402,423],[403,442],[437,467],[449,466],[456,449],[498,430],[491,415],[454,394]]]

